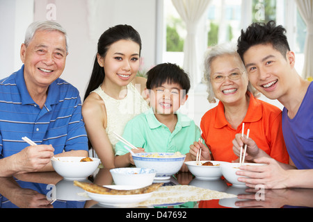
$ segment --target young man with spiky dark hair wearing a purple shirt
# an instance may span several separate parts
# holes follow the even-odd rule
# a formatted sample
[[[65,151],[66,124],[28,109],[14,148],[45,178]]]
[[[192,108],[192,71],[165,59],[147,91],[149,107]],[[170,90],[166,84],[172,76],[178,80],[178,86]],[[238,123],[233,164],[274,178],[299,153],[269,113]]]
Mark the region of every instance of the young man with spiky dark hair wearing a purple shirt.
[[[269,157],[255,162],[265,167],[242,167],[254,172],[237,172],[248,186],[264,184],[267,188],[313,187],[313,84],[303,80],[297,73],[294,52],[290,51],[286,30],[268,24],[252,24],[241,31],[238,53],[243,60],[250,83],[269,99],[278,99],[282,110],[282,132],[291,165],[281,164]],[[236,137],[238,149],[248,144],[253,153],[252,139]],[[261,152],[259,152],[261,153]],[[262,156],[262,155],[260,155]],[[287,170],[293,169],[293,170]]]

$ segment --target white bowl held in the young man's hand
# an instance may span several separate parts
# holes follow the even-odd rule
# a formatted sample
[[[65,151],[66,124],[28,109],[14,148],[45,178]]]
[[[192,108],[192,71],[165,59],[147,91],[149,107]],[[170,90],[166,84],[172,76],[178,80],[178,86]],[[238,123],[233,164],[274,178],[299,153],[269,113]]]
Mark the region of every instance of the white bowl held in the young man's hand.
[[[243,163],[243,165],[262,166],[264,164]],[[239,162],[224,162],[220,164],[220,171],[222,171],[224,178],[233,186],[246,187],[245,182],[238,181],[238,178],[244,178],[245,176],[236,175],[236,171],[241,171],[241,169],[239,169]]]

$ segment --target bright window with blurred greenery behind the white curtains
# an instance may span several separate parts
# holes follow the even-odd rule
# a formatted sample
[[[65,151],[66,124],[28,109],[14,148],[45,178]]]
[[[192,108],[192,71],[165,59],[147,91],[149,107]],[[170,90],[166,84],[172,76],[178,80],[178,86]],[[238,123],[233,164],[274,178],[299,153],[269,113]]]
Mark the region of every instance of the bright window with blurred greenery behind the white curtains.
[[[304,62],[304,44],[306,25],[303,22],[296,3],[291,0],[211,0],[203,24],[200,24],[199,42],[203,48],[222,42],[236,42],[241,29],[252,22],[274,20],[287,29],[291,50],[296,53],[296,69],[301,74]],[[186,27],[179,17],[172,1],[163,0],[164,19],[166,24],[166,47],[163,62],[174,62],[183,67],[184,39]],[[287,16],[288,15],[288,16]],[[199,61],[201,66],[202,61]],[[198,83],[201,82],[198,75]]]

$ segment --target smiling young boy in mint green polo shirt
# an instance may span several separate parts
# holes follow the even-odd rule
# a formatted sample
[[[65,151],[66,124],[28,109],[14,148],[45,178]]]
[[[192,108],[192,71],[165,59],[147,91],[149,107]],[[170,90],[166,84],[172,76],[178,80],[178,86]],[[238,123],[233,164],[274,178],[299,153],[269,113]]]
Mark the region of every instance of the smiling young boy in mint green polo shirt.
[[[200,139],[200,128],[193,120],[177,112],[188,99],[190,80],[188,74],[177,65],[163,63],[147,72],[147,98],[150,110],[131,119],[123,136],[131,144],[140,147],[136,152],[179,151],[191,160],[189,146]],[[122,142],[115,146],[115,167],[134,164]],[[181,171],[188,171],[185,164]]]

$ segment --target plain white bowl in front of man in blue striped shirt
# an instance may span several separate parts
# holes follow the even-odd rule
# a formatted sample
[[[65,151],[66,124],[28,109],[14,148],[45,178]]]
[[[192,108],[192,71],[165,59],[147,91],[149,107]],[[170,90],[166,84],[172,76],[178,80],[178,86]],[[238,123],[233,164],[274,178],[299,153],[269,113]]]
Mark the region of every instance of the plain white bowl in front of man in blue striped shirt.
[[[85,180],[93,174],[99,166],[100,159],[91,158],[93,161],[80,162],[83,157],[55,157],[51,158],[52,166],[56,173],[63,176],[64,180]]]

